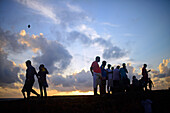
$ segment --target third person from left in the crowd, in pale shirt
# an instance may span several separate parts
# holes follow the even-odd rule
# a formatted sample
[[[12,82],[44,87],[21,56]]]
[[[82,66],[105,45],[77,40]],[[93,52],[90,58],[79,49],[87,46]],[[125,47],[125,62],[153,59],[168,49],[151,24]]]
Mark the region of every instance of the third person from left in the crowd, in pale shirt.
[[[107,65],[107,77],[108,77],[108,84],[107,84],[107,91],[110,94],[110,91],[113,89],[113,70],[110,69],[111,65]]]

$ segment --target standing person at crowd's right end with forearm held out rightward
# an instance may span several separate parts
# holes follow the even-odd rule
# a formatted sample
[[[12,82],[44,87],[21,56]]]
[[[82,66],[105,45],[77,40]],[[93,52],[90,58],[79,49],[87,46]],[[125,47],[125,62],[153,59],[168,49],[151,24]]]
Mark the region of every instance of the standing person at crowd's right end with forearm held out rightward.
[[[148,84],[148,72],[151,71],[151,70],[147,71],[146,67],[147,67],[147,65],[144,64],[143,68],[142,68],[142,75],[143,75],[143,80],[144,80],[145,91],[147,90],[147,84]]]

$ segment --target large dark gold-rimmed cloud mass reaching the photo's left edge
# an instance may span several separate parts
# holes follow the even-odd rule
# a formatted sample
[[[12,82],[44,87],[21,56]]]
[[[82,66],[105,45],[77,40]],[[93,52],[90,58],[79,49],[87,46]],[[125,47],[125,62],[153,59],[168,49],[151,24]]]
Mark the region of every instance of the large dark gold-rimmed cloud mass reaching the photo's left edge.
[[[27,50],[31,49],[36,56],[32,59],[38,67],[43,63],[48,67],[49,72],[62,72],[70,64],[72,56],[69,52],[56,41],[48,41],[40,36],[29,36],[25,30],[18,34],[12,34],[10,31],[3,31],[0,29],[0,85],[5,83],[23,82],[24,76],[18,73],[22,70],[23,65],[16,66],[15,62],[8,60],[9,54],[27,54]],[[9,53],[9,54],[8,54]],[[27,59],[25,59],[27,60]],[[24,62],[25,62],[24,60]]]

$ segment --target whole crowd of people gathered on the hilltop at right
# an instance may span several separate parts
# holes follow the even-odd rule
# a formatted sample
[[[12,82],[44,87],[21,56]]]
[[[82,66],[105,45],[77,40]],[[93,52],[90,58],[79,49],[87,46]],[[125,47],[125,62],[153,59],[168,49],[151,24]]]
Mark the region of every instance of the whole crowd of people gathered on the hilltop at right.
[[[132,78],[132,84],[130,84],[130,79],[128,78],[128,70],[126,68],[126,64],[123,63],[122,67],[119,65],[114,68],[111,67],[111,64],[107,65],[106,61],[102,61],[101,66],[99,67],[98,62],[100,62],[100,57],[97,56],[95,61],[91,64],[90,71],[93,76],[93,88],[94,95],[97,94],[97,88],[99,86],[100,95],[106,94],[106,90],[108,94],[112,92],[121,91],[127,92],[129,90],[133,91],[145,91],[148,90],[147,86],[149,84],[149,89],[152,89],[153,83],[150,78],[148,78],[148,72],[151,70],[147,70],[147,65],[144,64],[142,68],[142,78],[138,80],[136,76]]]

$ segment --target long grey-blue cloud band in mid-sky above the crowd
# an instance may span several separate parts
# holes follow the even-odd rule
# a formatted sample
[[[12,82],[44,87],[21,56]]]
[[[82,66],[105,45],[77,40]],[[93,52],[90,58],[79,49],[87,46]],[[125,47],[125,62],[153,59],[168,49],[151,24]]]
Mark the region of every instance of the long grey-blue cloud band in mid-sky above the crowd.
[[[101,37],[98,38],[90,38],[86,34],[78,31],[72,31],[68,33],[67,41],[71,42],[71,44],[75,41],[80,41],[84,45],[97,45],[98,47],[102,47],[103,50],[103,58],[111,59],[111,58],[122,58],[127,55],[127,52],[118,46],[113,46],[113,44],[109,40],[105,40]]]

